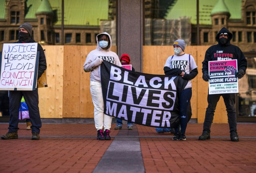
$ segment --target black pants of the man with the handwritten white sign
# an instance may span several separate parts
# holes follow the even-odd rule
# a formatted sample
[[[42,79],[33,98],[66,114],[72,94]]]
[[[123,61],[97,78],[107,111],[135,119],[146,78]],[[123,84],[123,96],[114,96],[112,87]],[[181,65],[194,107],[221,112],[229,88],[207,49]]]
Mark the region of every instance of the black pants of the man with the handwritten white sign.
[[[10,120],[9,120],[9,132],[18,131],[19,122],[19,107],[21,106],[21,98],[24,96],[25,102],[29,109],[29,117],[32,123],[32,133],[40,133],[42,127],[39,107],[38,107],[38,88],[33,91],[9,91],[9,103],[10,103]]]

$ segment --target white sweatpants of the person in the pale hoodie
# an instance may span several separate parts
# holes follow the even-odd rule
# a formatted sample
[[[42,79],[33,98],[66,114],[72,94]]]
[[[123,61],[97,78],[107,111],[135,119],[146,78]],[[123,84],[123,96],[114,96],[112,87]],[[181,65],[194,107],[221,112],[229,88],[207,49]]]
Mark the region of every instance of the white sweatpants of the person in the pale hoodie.
[[[112,116],[104,114],[104,101],[102,96],[101,83],[90,81],[91,98],[94,105],[94,122],[97,130],[111,128]]]

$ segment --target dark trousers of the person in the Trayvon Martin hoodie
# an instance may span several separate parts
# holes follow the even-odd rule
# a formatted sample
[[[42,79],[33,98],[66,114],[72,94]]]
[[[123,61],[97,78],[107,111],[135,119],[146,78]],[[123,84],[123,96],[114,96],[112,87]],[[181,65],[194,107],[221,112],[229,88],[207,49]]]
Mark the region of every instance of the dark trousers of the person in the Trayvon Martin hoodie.
[[[235,112],[235,94],[209,94],[207,96],[208,107],[205,112],[205,122],[203,123],[203,130],[210,131],[211,123],[213,123],[213,116],[220,97],[223,97],[226,105],[227,120],[229,121],[229,129],[237,131],[237,114]]]

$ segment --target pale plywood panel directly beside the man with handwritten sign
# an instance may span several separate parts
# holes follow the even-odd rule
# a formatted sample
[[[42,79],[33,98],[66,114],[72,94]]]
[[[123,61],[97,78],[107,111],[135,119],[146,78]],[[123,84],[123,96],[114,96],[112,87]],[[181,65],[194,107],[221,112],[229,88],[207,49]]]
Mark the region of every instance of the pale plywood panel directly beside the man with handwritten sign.
[[[46,49],[48,87],[39,88],[41,118],[62,118],[63,113],[63,46]]]

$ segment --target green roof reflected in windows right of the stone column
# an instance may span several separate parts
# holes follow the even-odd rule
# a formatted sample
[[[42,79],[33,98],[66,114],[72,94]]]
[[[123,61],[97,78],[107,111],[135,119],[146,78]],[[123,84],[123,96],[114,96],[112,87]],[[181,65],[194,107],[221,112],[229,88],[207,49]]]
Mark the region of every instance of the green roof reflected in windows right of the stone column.
[[[241,19],[242,0],[224,0],[230,19]],[[199,24],[211,25],[211,11],[218,0],[199,0]],[[190,17],[191,23],[197,24],[197,0],[177,0],[166,14],[166,19],[179,19],[179,17]]]

